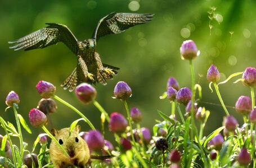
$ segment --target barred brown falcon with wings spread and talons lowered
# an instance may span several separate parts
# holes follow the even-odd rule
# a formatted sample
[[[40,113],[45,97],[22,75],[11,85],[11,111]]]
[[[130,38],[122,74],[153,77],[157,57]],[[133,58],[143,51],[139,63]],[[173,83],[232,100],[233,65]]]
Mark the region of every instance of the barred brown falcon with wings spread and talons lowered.
[[[10,46],[14,50],[32,50],[45,48],[59,42],[64,43],[77,55],[77,67],[69,74],[68,78],[61,84],[64,89],[73,91],[79,83],[102,83],[106,85],[106,80],[113,78],[119,68],[101,62],[97,53],[97,41],[107,34],[118,34],[129,27],[145,24],[152,20],[154,14],[140,13],[110,13],[98,21],[91,39],[83,41],[77,40],[69,28],[62,24],[49,23],[47,27],[32,32],[16,41]]]

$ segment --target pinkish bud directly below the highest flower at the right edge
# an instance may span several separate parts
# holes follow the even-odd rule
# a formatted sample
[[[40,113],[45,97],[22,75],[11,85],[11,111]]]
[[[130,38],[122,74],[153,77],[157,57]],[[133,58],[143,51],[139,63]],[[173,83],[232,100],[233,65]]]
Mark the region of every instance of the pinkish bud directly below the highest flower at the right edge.
[[[251,100],[248,96],[240,96],[236,101],[235,109],[242,115],[249,114],[251,111]]]

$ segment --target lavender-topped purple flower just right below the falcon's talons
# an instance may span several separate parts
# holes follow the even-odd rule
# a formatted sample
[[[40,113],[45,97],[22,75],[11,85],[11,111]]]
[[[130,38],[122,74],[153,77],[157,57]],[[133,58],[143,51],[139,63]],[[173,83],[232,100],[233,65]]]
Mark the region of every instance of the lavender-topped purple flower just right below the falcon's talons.
[[[123,81],[118,82],[114,88],[114,96],[116,99],[126,100],[128,97],[132,96],[132,89],[127,83]]]

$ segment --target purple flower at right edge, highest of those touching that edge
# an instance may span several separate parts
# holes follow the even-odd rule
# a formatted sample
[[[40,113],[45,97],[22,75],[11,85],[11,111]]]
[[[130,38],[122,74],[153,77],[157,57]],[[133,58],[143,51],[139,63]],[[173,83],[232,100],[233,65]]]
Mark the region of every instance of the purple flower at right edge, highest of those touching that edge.
[[[255,86],[256,85],[256,69],[253,67],[246,68],[244,73],[242,73],[242,79],[244,80],[242,83],[245,86]]]

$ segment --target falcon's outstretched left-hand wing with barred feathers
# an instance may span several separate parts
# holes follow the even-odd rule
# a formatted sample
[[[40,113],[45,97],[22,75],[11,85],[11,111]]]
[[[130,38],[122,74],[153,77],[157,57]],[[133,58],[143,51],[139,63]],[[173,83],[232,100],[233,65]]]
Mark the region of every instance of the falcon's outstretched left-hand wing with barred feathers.
[[[10,46],[10,48],[14,50],[32,50],[45,48],[49,45],[62,42],[68,46],[73,53],[77,54],[79,49],[78,41],[67,26],[54,23],[47,25],[49,26],[32,32],[23,38],[8,42],[10,44],[15,44],[14,46]]]

